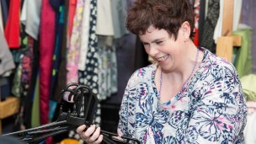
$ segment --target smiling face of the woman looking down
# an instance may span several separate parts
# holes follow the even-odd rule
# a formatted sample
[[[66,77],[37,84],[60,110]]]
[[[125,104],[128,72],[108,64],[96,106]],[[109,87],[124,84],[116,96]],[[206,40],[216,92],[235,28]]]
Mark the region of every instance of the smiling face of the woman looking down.
[[[179,30],[180,33],[181,30]],[[164,71],[172,72],[182,59],[184,40],[178,34],[177,40],[170,36],[165,29],[156,29],[150,26],[146,34],[139,35],[147,54],[157,61]]]

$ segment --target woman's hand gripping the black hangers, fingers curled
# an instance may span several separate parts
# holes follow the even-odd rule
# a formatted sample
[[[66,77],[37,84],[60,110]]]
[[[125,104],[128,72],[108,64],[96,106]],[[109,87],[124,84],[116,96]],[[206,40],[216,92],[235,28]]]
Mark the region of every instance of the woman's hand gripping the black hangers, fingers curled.
[[[91,125],[86,131],[84,131],[86,125],[77,127],[77,133],[87,143],[99,144],[103,140],[103,135],[100,135],[100,127],[96,128],[96,125]]]

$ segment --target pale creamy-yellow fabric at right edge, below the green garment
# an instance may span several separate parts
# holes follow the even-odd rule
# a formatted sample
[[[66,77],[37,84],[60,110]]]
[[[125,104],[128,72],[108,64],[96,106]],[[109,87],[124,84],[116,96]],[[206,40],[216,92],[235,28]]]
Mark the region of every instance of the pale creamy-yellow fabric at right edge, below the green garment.
[[[243,93],[248,101],[256,101],[256,75],[248,74],[240,78]]]

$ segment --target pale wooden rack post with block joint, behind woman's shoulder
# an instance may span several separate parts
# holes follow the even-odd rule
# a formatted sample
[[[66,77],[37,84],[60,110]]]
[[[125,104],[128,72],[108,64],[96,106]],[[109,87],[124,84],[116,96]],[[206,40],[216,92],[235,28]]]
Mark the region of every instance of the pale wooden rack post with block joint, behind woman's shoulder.
[[[234,0],[223,0],[223,19],[221,36],[217,38],[216,56],[232,62],[233,46],[241,46],[242,37],[232,35]]]

